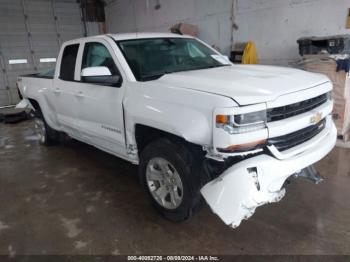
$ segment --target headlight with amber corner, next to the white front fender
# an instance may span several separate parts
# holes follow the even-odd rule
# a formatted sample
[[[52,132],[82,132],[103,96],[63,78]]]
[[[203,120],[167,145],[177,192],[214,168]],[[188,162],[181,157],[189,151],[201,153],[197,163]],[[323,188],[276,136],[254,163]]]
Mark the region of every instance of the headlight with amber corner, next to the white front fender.
[[[241,115],[217,115],[216,127],[230,134],[252,132],[266,128],[266,110]]]

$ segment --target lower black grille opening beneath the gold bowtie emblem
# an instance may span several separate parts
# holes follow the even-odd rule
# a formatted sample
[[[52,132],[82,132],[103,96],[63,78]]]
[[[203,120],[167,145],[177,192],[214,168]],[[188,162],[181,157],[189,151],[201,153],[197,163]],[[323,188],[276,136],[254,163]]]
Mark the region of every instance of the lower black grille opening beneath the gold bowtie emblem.
[[[316,125],[308,126],[284,136],[270,138],[268,140],[268,144],[274,145],[279,151],[284,151],[300,145],[318,135],[325,128],[325,126],[326,119],[324,118]]]

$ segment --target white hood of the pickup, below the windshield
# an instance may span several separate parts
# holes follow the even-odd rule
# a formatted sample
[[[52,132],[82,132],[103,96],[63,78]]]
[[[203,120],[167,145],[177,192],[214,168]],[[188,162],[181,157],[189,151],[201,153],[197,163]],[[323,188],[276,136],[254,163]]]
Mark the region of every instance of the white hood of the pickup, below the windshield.
[[[166,74],[156,80],[177,88],[227,96],[239,105],[273,101],[329,79],[299,69],[262,65],[233,65]]]

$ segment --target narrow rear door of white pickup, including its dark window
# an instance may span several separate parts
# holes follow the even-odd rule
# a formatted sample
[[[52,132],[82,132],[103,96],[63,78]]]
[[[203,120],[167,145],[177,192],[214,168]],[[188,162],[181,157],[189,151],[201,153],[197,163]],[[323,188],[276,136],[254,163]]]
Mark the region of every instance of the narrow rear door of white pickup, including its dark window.
[[[63,131],[79,137],[78,99],[79,83],[77,82],[76,64],[80,44],[67,44],[63,52],[58,77],[55,77],[52,97],[55,103],[57,119]]]

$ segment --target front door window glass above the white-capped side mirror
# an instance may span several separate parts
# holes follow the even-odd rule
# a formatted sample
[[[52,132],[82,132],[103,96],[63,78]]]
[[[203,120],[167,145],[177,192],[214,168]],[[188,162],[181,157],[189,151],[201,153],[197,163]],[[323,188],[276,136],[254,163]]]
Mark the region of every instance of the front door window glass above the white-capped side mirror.
[[[86,43],[84,48],[81,69],[93,66],[105,66],[111,71],[112,75],[119,75],[117,66],[108,49],[98,42]]]

